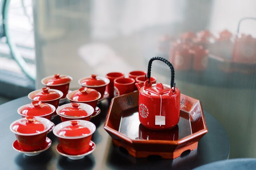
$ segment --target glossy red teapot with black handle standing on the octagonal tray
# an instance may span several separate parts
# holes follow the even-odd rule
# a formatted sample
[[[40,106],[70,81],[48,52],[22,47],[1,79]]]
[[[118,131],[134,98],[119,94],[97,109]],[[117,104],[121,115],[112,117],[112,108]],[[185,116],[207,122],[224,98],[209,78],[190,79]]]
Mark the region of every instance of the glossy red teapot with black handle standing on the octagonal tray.
[[[151,65],[155,60],[166,63],[171,69],[171,85],[152,84],[150,81]],[[147,128],[155,130],[170,129],[179,122],[180,91],[175,87],[174,68],[162,58],[150,59],[147,68],[147,80],[135,84],[139,90],[139,121]]]

